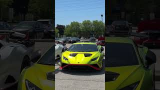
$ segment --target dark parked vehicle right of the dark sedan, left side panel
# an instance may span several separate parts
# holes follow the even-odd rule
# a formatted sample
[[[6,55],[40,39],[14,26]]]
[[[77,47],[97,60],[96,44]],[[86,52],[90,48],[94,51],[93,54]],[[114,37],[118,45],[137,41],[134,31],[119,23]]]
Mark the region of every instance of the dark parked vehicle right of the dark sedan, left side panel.
[[[39,19],[37,21],[44,25],[44,38],[54,38],[54,21],[52,19]]]

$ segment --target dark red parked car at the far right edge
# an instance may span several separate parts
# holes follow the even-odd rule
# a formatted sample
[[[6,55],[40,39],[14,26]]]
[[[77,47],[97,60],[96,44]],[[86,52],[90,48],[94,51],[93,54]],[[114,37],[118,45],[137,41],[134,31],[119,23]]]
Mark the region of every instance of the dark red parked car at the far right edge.
[[[134,37],[137,44],[149,48],[160,47],[160,20],[147,20],[138,24],[137,34],[146,35],[146,37]]]

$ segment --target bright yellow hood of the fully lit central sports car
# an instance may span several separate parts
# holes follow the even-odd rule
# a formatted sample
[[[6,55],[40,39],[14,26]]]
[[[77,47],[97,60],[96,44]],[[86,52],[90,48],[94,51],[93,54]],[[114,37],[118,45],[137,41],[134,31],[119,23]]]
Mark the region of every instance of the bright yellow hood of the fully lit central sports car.
[[[76,54],[71,56],[71,54]],[[99,58],[100,53],[97,52],[70,52],[66,51],[62,54],[62,58],[66,57],[69,64],[90,64],[94,58]]]

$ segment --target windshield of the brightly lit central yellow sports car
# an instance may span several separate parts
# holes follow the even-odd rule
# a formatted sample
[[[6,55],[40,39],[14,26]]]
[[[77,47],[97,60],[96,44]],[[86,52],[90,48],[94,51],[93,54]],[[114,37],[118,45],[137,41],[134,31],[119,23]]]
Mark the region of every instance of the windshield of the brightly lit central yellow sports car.
[[[71,52],[96,52],[98,51],[96,44],[74,44],[69,47],[68,51]]]

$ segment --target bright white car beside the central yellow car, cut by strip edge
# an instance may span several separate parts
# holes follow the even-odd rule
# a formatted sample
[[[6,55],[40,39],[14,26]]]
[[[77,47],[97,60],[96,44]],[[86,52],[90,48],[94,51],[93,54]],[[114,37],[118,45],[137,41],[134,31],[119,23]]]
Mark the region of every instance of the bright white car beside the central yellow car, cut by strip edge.
[[[55,59],[59,59],[61,57],[61,54],[65,48],[66,47],[62,44],[55,44]]]

